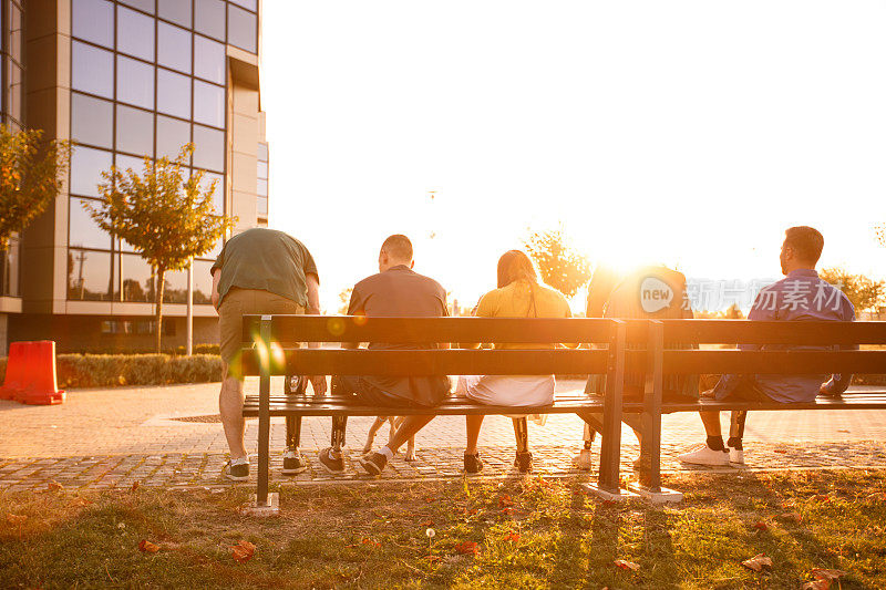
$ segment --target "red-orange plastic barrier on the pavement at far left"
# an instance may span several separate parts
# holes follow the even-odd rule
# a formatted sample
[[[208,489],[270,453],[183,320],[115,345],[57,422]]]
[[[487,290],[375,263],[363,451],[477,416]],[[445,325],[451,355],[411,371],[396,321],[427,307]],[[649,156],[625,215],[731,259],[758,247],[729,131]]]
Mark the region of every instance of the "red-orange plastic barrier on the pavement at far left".
[[[32,405],[64,403],[64,391],[59,390],[55,383],[55,342],[13,342],[4,381],[4,395],[11,391],[17,402]]]

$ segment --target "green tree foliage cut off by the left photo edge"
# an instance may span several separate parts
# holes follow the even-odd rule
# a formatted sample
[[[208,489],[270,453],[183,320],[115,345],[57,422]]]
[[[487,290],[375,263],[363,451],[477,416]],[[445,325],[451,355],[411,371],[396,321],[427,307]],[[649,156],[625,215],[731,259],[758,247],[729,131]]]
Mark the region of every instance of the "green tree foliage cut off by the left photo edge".
[[[42,214],[62,189],[70,148],[43,142],[43,132],[0,125],[0,251],[9,238]]]

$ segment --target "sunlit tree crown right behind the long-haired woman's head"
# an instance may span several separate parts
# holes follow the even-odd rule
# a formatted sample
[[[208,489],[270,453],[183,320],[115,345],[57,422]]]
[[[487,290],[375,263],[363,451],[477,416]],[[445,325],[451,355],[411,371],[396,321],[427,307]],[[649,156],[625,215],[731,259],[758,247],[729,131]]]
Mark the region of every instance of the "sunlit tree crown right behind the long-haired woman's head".
[[[573,248],[563,228],[534,231],[524,240],[529,257],[544,280],[567,298],[573,298],[590,279],[590,262]]]

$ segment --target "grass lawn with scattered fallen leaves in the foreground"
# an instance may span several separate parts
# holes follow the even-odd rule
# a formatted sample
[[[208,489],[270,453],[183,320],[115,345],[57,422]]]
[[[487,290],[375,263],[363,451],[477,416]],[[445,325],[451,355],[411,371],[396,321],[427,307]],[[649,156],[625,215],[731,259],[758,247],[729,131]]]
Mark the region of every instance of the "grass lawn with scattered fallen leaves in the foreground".
[[[799,589],[831,568],[846,572],[831,588],[886,588],[886,472],[667,484],[682,505],[538,477],[286,486],[270,519],[240,514],[246,488],[0,494],[0,587]],[[758,553],[771,569],[742,567]]]

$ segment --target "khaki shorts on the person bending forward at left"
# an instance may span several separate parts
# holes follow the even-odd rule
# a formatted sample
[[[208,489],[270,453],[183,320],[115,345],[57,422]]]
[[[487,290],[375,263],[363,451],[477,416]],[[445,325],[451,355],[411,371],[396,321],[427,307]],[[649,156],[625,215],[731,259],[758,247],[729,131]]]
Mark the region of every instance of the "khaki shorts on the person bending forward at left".
[[[240,375],[237,361],[243,345],[243,317],[259,313],[300,315],[305,313],[305,308],[291,299],[258,289],[231,288],[225,293],[218,308],[219,349],[230,375]]]

